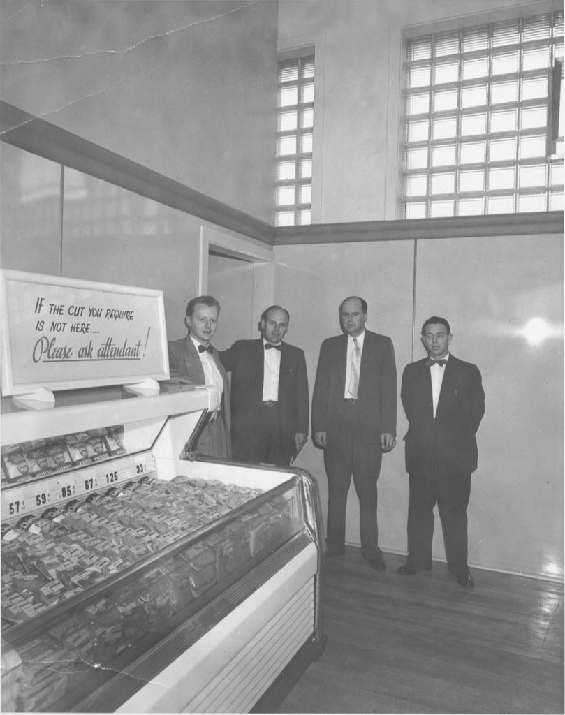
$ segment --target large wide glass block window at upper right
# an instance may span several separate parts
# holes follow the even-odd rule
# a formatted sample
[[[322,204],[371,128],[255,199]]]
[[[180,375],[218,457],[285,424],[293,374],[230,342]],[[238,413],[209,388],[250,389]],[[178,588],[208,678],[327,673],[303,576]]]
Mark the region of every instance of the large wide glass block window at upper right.
[[[402,217],[562,210],[562,66],[563,12],[408,39]]]

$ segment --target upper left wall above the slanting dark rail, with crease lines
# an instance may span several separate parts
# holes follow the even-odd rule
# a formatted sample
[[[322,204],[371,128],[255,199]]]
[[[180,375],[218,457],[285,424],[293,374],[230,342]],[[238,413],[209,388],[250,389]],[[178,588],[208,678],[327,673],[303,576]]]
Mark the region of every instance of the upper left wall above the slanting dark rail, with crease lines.
[[[276,3],[11,0],[0,11],[4,102],[272,221]]]

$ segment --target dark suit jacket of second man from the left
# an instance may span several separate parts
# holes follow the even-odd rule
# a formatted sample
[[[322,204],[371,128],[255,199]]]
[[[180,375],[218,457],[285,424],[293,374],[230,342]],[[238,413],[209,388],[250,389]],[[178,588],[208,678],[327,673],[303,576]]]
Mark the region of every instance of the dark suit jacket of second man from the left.
[[[308,434],[310,402],[304,351],[283,342],[280,349],[278,417],[281,445],[288,454],[295,451],[297,432]],[[232,373],[232,444],[235,455],[242,445],[257,440],[257,422],[263,394],[263,340],[237,340],[220,359]]]

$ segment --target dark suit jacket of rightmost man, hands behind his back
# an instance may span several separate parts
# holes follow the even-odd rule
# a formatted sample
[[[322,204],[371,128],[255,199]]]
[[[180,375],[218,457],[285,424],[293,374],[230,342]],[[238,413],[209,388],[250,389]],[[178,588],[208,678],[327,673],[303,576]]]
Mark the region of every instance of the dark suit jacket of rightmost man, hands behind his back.
[[[485,412],[485,393],[476,365],[449,359],[433,418],[430,368],[426,358],[406,365],[401,400],[408,418],[406,469],[431,475],[476,470],[476,431]]]

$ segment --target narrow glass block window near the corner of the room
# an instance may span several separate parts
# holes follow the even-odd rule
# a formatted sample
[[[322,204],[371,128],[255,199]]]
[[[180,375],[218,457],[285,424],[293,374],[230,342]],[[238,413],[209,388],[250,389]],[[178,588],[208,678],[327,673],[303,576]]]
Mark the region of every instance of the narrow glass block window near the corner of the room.
[[[311,222],[314,56],[279,62],[275,226]]]

